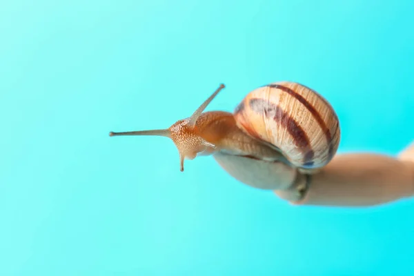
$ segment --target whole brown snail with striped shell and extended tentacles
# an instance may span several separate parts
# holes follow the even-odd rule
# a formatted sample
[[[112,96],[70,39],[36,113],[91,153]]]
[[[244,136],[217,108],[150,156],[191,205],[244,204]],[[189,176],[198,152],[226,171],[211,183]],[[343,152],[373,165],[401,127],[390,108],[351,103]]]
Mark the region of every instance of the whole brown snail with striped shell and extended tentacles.
[[[110,136],[169,137],[179,150],[181,171],[184,159],[213,155],[218,161],[221,157],[235,160],[230,163],[237,165],[226,164],[225,170],[255,170],[253,176],[266,175],[273,163],[284,164],[286,170],[311,172],[326,166],[335,155],[339,121],[328,101],[314,90],[295,82],[270,83],[249,92],[233,113],[204,112],[223,88],[221,84],[191,117],[170,128],[110,132]]]

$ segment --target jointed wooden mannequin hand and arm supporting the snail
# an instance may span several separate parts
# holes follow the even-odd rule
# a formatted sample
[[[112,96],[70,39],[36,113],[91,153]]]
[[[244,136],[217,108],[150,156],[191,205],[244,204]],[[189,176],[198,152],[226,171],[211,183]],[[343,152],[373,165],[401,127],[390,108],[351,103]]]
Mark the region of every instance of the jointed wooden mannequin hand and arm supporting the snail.
[[[414,196],[414,143],[397,158],[373,153],[337,155],[311,177],[282,163],[221,154],[214,157],[235,179],[272,189],[292,204],[375,206]],[[239,166],[241,162],[248,166]]]

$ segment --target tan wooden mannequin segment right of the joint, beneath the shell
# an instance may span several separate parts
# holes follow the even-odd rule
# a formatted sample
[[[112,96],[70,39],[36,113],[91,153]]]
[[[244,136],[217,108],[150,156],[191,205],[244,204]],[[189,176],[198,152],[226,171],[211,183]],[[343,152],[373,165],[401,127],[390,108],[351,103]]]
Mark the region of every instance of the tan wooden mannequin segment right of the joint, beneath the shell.
[[[414,196],[414,146],[398,159],[375,154],[337,155],[308,179],[299,175],[289,190],[275,193],[292,204],[375,206]],[[298,190],[305,188],[302,198]],[[295,197],[297,197],[295,199]]]

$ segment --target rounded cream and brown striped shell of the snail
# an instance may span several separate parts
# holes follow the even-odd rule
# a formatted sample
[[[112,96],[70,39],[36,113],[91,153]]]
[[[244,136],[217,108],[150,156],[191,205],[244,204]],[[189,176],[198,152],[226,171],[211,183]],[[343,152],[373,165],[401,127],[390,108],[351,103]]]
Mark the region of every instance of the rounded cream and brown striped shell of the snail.
[[[257,88],[239,103],[234,115],[239,128],[279,148],[297,168],[326,166],[339,147],[335,110],[300,83],[282,81]]]

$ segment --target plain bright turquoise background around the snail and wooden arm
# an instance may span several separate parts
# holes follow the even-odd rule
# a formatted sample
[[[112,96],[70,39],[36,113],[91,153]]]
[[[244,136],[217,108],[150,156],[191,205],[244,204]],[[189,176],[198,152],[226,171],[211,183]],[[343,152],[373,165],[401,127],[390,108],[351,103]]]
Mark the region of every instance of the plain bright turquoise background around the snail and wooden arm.
[[[0,275],[410,275],[414,201],[295,207],[162,137],[290,80],[339,152],[414,139],[413,1],[1,1]]]

